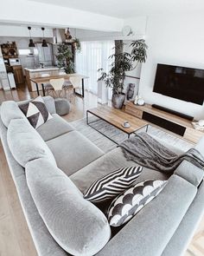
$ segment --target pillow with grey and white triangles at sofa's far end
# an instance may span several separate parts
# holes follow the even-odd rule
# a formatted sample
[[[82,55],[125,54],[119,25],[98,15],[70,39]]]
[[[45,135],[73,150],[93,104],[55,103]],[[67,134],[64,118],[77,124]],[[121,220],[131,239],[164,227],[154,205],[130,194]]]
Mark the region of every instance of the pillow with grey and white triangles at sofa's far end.
[[[35,129],[53,118],[53,116],[49,114],[41,96],[38,96],[32,102],[20,105],[19,108]]]

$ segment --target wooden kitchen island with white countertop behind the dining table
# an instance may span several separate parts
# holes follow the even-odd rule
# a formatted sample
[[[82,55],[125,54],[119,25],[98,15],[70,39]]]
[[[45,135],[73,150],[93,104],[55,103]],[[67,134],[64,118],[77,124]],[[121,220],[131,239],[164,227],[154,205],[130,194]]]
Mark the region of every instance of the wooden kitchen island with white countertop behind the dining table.
[[[24,68],[26,74],[26,82],[29,88],[29,91],[36,91],[35,83],[30,81],[30,79],[35,77],[41,77],[42,74],[59,75],[60,69],[58,67],[49,66],[45,68]],[[41,85],[39,85],[41,89]]]

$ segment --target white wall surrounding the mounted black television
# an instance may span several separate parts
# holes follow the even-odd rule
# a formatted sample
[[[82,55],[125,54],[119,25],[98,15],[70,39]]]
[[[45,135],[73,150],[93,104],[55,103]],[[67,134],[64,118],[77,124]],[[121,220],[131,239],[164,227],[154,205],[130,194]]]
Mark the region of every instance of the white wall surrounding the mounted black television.
[[[203,24],[204,16],[197,14],[149,17],[146,30],[148,58],[143,64],[140,80],[140,94],[145,102],[204,119],[204,106],[152,92],[158,62],[204,69]]]

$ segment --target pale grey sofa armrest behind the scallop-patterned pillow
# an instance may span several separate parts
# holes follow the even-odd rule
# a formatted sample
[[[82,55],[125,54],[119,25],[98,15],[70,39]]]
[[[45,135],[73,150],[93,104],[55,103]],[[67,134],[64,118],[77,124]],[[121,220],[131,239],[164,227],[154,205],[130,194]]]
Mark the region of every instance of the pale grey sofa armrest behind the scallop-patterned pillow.
[[[163,191],[143,207],[97,255],[161,255],[196,192],[194,185],[173,174]]]

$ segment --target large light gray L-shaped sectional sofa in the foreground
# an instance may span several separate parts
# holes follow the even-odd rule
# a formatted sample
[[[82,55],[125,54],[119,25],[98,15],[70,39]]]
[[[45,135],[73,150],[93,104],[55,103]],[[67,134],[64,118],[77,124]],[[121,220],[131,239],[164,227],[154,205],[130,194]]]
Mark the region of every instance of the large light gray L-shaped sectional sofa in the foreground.
[[[104,213],[84,200],[83,192],[118,167],[137,164],[127,161],[121,148],[104,154],[55,114],[50,96],[44,102],[53,119],[37,130],[16,102],[3,102],[0,119],[3,149],[37,253],[182,255],[204,211],[203,170],[182,161],[169,177],[143,167],[137,181],[168,179],[168,184],[112,237]],[[204,139],[195,148],[204,155]]]

